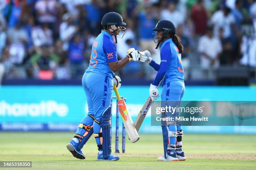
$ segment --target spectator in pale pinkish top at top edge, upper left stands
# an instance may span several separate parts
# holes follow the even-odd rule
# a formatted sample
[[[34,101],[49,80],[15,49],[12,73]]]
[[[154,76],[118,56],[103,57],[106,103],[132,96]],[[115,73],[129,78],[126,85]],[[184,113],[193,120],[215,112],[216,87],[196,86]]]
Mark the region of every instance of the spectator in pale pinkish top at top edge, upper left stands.
[[[39,23],[53,24],[56,21],[58,7],[56,0],[38,0],[35,8]]]

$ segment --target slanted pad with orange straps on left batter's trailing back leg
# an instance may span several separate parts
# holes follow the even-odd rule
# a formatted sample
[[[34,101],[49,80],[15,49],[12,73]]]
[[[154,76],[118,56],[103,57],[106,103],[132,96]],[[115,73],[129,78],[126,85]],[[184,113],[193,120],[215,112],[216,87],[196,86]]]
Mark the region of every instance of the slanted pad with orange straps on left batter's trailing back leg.
[[[92,122],[93,122],[94,116],[92,116],[92,115],[88,115],[88,116],[92,118]],[[78,148],[79,150],[81,150],[81,149],[83,148],[84,144],[85,144],[85,143],[89,140],[89,138],[92,136],[92,134],[93,134],[93,127],[92,127],[92,123],[90,123],[89,125],[84,125],[84,124],[81,123],[81,124],[79,124],[78,128],[81,128],[81,129],[84,129],[84,130],[85,130],[84,134],[83,134],[83,135],[80,135],[80,137],[79,137],[80,143],[79,143],[79,145],[77,146],[77,148]],[[77,134],[76,134],[75,136],[78,137]]]

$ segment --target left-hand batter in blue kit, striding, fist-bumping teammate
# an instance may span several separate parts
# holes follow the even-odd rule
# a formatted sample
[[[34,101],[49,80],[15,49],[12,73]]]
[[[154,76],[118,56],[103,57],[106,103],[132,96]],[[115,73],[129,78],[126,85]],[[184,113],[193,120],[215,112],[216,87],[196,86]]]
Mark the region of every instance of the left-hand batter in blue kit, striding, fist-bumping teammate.
[[[126,57],[119,61],[117,59],[116,37],[123,37],[126,25],[120,14],[114,12],[105,14],[101,25],[103,30],[92,45],[90,65],[82,77],[89,110],[88,115],[80,122],[67,149],[75,158],[85,159],[81,149],[94,133],[99,150],[97,160],[119,160],[118,156],[111,154],[110,141],[110,101],[114,72],[120,70],[131,60],[139,61],[141,57],[137,50],[131,48]],[[141,62],[145,60],[141,60]]]

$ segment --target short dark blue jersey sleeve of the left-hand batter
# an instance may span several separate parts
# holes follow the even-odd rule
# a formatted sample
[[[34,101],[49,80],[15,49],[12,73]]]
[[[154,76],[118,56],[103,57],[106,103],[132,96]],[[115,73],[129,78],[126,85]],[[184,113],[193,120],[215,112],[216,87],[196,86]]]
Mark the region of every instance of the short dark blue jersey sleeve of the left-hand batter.
[[[103,37],[103,50],[107,57],[107,62],[117,61],[116,46],[113,41],[106,35]]]

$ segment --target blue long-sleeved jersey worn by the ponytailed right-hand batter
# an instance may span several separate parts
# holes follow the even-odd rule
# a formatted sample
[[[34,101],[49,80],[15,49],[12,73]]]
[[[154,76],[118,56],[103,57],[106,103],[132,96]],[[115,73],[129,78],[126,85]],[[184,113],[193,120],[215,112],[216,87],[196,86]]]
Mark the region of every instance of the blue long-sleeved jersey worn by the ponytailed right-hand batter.
[[[172,41],[172,38],[164,41],[161,46],[160,55],[160,65],[153,60],[149,63],[149,65],[158,71],[152,85],[158,86],[163,78],[163,85],[170,81],[184,80],[181,54],[179,53],[177,46]]]

